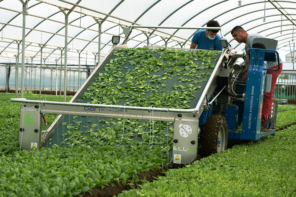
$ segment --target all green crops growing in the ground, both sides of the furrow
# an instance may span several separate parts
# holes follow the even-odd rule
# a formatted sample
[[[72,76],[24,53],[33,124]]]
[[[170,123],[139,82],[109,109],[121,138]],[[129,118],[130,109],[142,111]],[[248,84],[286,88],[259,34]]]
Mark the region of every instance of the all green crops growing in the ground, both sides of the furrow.
[[[39,99],[39,95],[25,97]],[[138,173],[166,162],[160,149],[139,144],[19,151],[19,103],[10,98],[14,94],[0,94],[0,196],[73,196],[117,181],[131,184],[128,177],[137,180]],[[59,100],[49,95],[43,98]],[[290,115],[294,109],[293,105],[279,106],[281,126],[294,121]],[[47,115],[49,122],[54,118]],[[120,196],[296,196],[295,130],[292,126],[275,136],[169,170],[166,177]]]

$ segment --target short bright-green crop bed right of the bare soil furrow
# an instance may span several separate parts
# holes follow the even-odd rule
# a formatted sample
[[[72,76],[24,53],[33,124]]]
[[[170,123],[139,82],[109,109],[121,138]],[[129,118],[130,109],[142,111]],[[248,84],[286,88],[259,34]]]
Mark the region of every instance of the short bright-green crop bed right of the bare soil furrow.
[[[295,196],[295,131],[236,145],[118,196]]]

